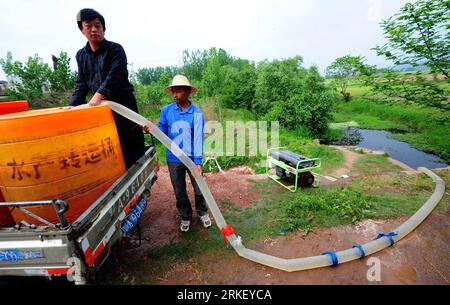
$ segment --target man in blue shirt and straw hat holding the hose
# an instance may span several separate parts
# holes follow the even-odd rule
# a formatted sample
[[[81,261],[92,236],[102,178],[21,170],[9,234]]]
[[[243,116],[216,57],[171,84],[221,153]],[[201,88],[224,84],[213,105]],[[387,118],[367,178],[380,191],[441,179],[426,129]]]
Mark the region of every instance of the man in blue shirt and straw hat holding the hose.
[[[197,92],[197,88],[191,86],[185,76],[176,75],[172,80],[172,85],[167,87],[165,91],[172,94],[174,103],[161,110],[158,127],[191,158],[197,165],[200,174],[203,175],[205,119],[202,111],[189,101],[190,94]],[[180,230],[187,232],[192,220],[192,207],[186,192],[186,172],[189,174],[194,187],[197,215],[205,228],[211,227],[208,206],[188,168],[169,149],[166,152],[166,160],[170,180],[175,191],[177,209],[181,217]]]

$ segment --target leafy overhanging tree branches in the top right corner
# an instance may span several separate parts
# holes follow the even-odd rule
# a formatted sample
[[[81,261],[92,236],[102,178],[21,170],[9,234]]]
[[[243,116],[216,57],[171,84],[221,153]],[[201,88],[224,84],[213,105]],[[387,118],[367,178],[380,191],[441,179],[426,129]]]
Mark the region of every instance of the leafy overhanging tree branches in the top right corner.
[[[396,65],[428,66],[450,78],[450,1],[418,0],[381,23],[388,42],[376,46],[378,55]]]

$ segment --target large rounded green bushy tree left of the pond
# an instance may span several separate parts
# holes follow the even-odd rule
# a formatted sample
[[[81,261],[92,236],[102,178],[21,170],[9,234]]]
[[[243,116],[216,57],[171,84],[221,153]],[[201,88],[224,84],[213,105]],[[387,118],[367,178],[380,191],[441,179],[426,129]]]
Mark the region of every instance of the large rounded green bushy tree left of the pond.
[[[257,68],[252,110],[287,129],[305,127],[321,136],[328,128],[338,94],[325,85],[317,67],[305,69],[303,59],[264,61]]]

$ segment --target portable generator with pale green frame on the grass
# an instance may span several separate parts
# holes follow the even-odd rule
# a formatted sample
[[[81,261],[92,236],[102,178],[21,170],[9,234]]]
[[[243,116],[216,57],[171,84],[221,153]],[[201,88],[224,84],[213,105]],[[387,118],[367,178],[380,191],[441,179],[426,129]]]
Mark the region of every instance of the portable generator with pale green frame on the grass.
[[[318,187],[320,168],[319,158],[311,159],[284,147],[267,150],[267,176],[291,192],[296,192],[299,187]]]

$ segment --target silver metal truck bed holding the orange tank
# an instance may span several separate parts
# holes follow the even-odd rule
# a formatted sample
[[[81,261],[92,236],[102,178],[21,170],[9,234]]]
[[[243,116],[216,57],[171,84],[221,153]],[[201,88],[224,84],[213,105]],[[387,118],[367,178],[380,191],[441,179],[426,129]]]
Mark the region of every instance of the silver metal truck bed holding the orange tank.
[[[112,245],[128,233],[124,222],[138,220],[145,209],[156,180],[155,152],[155,147],[149,147],[73,223],[0,228],[0,276],[67,275],[77,284],[85,283],[108,257]],[[0,206],[14,204],[18,203]]]

